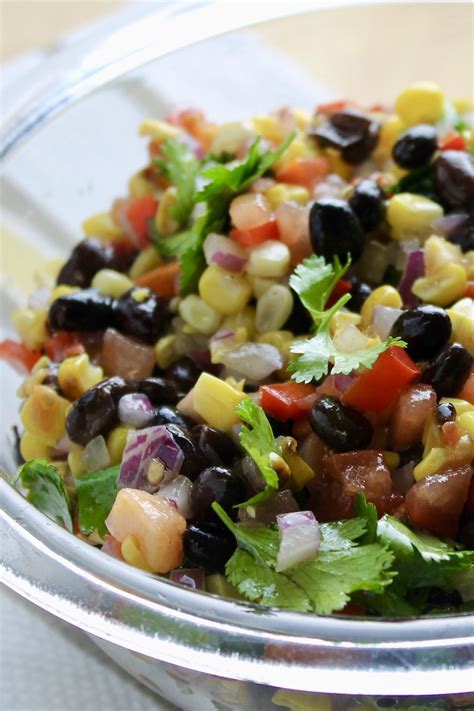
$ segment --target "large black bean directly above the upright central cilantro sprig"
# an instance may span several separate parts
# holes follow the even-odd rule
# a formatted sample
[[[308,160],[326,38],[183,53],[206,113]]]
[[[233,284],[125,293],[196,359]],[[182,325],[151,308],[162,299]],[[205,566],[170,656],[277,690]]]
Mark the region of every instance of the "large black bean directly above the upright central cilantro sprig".
[[[315,202],[309,213],[309,233],[314,252],[327,261],[338,256],[345,262],[350,254],[354,262],[362,254],[364,233],[345,200]]]

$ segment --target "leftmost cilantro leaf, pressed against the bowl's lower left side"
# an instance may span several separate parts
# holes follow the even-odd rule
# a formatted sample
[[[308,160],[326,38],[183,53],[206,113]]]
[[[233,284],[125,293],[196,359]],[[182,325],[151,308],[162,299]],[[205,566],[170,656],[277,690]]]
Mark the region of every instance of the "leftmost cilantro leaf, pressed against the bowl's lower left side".
[[[69,496],[55,466],[45,459],[30,459],[20,467],[18,479],[33,506],[72,531]]]

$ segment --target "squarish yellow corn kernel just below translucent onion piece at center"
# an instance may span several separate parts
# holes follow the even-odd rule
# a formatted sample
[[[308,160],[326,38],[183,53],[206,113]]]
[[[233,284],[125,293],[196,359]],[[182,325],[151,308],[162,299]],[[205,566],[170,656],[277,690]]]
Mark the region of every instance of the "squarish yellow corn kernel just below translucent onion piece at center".
[[[194,386],[194,409],[211,427],[229,430],[239,422],[235,408],[246,397],[229,383],[202,373]]]

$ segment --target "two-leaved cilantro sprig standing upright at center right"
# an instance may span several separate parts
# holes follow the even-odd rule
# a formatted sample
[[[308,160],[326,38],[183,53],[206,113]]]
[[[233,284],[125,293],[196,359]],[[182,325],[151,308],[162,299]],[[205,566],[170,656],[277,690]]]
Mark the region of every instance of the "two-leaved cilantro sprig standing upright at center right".
[[[334,286],[344,276],[349,265],[349,258],[342,266],[337,257],[330,265],[323,257],[312,256],[296,267],[290,277],[290,286],[310,312],[316,331],[313,338],[298,341],[291,348],[291,352],[298,358],[290,361],[288,370],[293,373],[292,378],[298,383],[320,380],[328,374],[330,363],[334,375],[338,373],[348,375],[360,367],[371,368],[379,355],[390,346],[406,346],[400,338],[390,336],[383,343],[348,353],[334,343],[329,332],[329,323],[332,316],[350,300],[351,296],[344,294],[330,309],[325,307]]]

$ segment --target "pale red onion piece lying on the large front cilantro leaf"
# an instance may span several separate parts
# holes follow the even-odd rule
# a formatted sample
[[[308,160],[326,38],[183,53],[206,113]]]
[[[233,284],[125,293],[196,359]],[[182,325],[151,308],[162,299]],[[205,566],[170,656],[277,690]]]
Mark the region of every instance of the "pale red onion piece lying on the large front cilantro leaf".
[[[277,516],[280,531],[276,571],[312,560],[319,551],[319,524],[312,511],[296,511]]]

